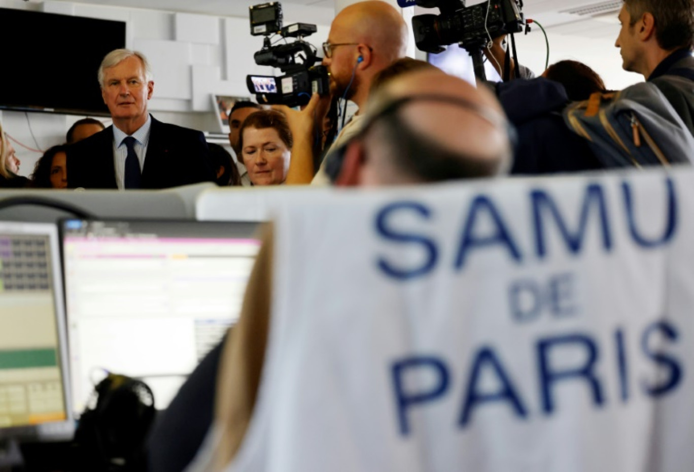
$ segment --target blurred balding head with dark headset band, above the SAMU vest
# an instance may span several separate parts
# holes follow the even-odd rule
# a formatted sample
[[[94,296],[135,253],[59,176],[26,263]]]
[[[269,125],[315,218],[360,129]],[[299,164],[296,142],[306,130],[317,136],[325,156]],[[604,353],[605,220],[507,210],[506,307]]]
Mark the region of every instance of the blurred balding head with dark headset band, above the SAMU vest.
[[[393,78],[363,119],[363,135],[345,154],[362,152],[351,176],[359,185],[496,176],[511,162],[507,121],[493,94],[441,71]]]

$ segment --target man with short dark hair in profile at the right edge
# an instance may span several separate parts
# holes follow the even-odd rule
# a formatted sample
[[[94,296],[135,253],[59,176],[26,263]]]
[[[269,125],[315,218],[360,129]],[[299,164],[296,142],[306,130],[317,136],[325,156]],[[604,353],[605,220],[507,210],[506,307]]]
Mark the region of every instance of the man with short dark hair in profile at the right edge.
[[[625,0],[622,67],[656,85],[694,134],[694,0]]]

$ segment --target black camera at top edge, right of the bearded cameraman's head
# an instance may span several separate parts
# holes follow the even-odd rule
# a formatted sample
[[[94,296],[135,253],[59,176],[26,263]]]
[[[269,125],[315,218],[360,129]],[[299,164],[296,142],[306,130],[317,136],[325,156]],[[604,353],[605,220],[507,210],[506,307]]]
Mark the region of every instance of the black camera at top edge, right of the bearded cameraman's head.
[[[489,40],[507,34],[521,33],[525,18],[519,0],[489,0],[466,7],[462,0],[415,0],[423,8],[439,7],[441,15],[418,15],[412,18],[417,48],[438,54],[449,44],[468,49],[482,49]]]

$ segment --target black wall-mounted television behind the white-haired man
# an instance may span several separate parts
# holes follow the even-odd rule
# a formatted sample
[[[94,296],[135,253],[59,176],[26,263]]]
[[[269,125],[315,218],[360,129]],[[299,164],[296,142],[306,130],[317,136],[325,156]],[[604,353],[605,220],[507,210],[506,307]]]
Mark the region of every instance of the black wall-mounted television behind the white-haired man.
[[[0,108],[108,116],[96,74],[125,22],[0,8]]]

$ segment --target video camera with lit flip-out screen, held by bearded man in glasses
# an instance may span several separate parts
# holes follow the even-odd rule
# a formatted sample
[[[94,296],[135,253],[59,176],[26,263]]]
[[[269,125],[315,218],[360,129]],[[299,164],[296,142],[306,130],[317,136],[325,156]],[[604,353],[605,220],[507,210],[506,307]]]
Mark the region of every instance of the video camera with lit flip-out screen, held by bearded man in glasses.
[[[283,28],[282,5],[278,2],[251,6],[249,10],[251,35],[265,37],[262,49],[253,55],[255,63],[278,67],[285,74],[246,77],[248,92],[255,94],[258,103],[295,107],[308,103],[314,92],[328,94],[328,69],[314,65],[320,61],[316,48],[303,40],[316,32],[316,25],[296,23]],[[271,37],[274,35],[295,37],[296,41],[273,46]]]

